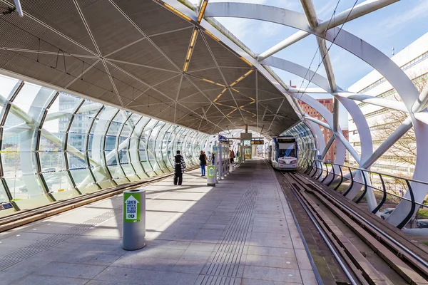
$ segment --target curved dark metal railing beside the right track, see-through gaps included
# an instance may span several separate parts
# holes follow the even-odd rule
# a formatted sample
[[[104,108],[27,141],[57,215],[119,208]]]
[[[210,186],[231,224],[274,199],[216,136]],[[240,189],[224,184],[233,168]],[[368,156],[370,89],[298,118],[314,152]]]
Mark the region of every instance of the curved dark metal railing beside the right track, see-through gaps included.
[[[393,197],[393,199],[399,199],[401,202],[405,200],[411,203],[411,207],[409,213],[404,219],[398,223],[397,228],[402,229],[407,223],[409,223],[412,219],[416,219],[414,217],[414,212],[417,207],[427,208],[428,205],[416,202],[414,199],[414,187],[412,185],[424,185],[424,187],[428,187],[428,182],[412,180],[405,177],[399,177],[396,175],[385,174],[382,172],[375,172],[372,170],[365,170],[358,167],[352,167],[348,165],[339,165],[331,162],[324,162],[321,160],[310,160],[307,158],[300,158],[302,165],[302,172],[310,177],[315,178],[315,180],[320,181],[322,184],[327,185],[328,187],[332,187],[333,190],[339,191],[342,186],[343,196],[346,196],[353,187],[356,185],[360,185],[362,187],[362,192],[356,195],[353,199],[355,203],[362,202],[362,199],[365,197],[367,190],[370,188],[374,192],[381,192],[382,197],[380,198],[377,206],[372,210],[373,214],[377,214],[379,209],[382,208],[385,202],[387,202],[387,197]],[[338,171],[337,171],[338,170]],[[357,173],[360,173],[362,180],[356,180]],[[371,181],[367,181],[367,177],[371,177],[376,179],[379,178],[377,183],[379,186],[372,185]],[[372,179],[370,179],[372,180]],[[392,190],[388,189],[385,180],[393,180],[394,185],[400,184],[403,186],[401,195],[397,195]],[[347,184],[347,185],[345,185]],[[345,187],[343,187],[345,186]],[[404,195],[409,192],[409,198],[404,197]]]

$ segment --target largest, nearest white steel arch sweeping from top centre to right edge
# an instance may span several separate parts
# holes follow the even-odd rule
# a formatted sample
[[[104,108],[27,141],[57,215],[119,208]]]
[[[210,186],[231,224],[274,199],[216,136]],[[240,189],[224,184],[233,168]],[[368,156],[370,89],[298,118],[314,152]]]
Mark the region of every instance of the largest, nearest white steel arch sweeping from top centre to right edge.
[[[302,2],[305,5],[306,1]],[[394,1],[385,2],[388,2],[386,4],[391,4]],[[373,11],[373,8],[376,7],[367,9],[367,11]],[[378,8],[380,8],[380,6],[378,6]],[[397,64],[395,64],[382,52],[377,50],[377,48],[374,48],[369,43],[362,41],[361,38],[352,35],[352,33],[349,33],[345,30],[340,30],[339,28],[330,28],[325,33],[322,33],[320,30],[317,29],[320,25],[315,27],[315,29],[312,29],[310,28],[310,25],[308,25],[305,15],[300,14],[296,11],[290,11],[288,9],[281,9],[277,7],[264,6],[259,4],[220,2],[208,4],[208,8],[205,12],[205,15],[209,17],[235,17],[256,19],[260,21],[270,21],[272,23],[297,28],[302,32],[300,33],[300,36],[295,36],[295,40],[293,42],[300,40],[300,38],[302,38],[303,32],[312,33],[318,38],[324,38],[327,41],[335,43],[337,46],[340,46],[341,48],[345,49],[346,51],[349,51],[350,53],[354,54],[366,63],[370,64],[370,66],[379,71],[379,73],[381,73],[382,76],[384,76],[384,78],[386,78],[387,81],[392,84],[395,90],[397,90],[399,96],[402,98],[405,107],[407,108],[409,118],[410,120],[412,120],[414,126],[417,142],[417,162],[414,171],[414,179],[423,180],[424,168],[427,167],[428,152],[424,152],[422,146],[424,145],[424,142],[428,141],[428,125],[422,123],[420,120],[417,119],[422,118],[422,114],[417,114],[415,116],[414,112],[412,111],[414,105],[419,104],[419,93],[412,81],[409,80],[409,78],[399,68],[399,66],[397,66]],[[215,36],[217,35],[218,33],[215,34]],[[224,37],[221,38],[221,40],[225,41],[226,43],[228,42],[228,39]],[[251,62],[253,63],[253,61]],[[337,91],[339,90],[333,91],[334,93],[337,93]],[[421,100],[419,99],[419,101]],[[367,160],[370,160],[370,157],[367,158]],[[413,185],[413,187],[415,193],[415,200],[417,202],[423,202],[424,198],[427,195],[428,189],[426,187],[422,187],[422,185]],[[406,193],[405,197],[409,198],[409,192]],[[399,203],[398,207],[388,218],[389,222],[397,225],[402,219],[404,219],[404,217],[407,216],[410,207],[410,202],[402,200],[402,202]]]

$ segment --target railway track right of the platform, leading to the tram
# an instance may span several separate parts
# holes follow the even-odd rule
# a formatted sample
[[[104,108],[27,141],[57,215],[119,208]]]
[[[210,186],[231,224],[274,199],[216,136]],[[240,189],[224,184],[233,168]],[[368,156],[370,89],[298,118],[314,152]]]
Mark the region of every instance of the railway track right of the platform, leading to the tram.
[[[349,284],[428,284],[428,263],[417,247],[338,199],[332,190],[295,172],[277,172],[295,195]]]

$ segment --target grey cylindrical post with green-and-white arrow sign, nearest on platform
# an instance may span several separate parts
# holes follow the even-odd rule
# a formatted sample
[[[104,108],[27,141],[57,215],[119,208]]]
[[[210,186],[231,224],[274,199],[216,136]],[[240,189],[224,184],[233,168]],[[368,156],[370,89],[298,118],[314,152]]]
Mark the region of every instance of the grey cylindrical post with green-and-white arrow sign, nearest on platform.
[[[143,248],[146,237],[146,190],[123,192],[123,237],[122,248],[136,250]]]

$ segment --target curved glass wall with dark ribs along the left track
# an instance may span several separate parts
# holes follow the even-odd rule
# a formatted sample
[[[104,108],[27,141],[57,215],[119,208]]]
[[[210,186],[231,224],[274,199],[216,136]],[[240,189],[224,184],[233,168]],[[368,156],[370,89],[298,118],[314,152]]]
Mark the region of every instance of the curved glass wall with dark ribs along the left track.
[[[208,135],[0,76],[0,217],[198,165]],[[11,208],[9,208],[11,206]]]

